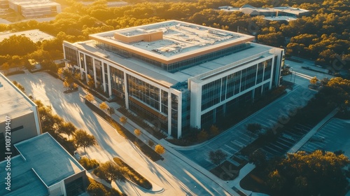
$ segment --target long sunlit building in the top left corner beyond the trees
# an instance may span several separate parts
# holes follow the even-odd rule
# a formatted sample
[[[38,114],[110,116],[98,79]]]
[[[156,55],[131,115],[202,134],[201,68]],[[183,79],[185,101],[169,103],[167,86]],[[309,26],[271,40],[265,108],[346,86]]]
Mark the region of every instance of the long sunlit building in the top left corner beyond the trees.
[[[0,3],[0,5],[6,6],[5,1],[0,1]],[[61,13],[61,5],[50,0],[8,0],[8,8],[15,10],[25,18],[39,18]]]

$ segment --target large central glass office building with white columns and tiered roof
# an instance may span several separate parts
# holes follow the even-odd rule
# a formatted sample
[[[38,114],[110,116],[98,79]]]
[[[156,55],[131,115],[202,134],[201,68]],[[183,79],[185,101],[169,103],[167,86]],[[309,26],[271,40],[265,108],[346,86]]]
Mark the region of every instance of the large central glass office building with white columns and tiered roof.
[[[284,53],[253,36],[170,20],[64,42],[66,66],[179,138],[279,85]]]

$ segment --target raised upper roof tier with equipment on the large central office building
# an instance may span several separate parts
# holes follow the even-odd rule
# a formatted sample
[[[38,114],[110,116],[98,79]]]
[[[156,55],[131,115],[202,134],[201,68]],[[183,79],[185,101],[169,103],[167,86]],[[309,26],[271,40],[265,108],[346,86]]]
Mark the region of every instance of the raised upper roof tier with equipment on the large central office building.
[[[206,52],[225,45],[238,45],[253,41],[253,36],[195,25],[188,22],[169,20],[151,25],[118,29],[90,38],[103,41],[120,48],[164,60],[187,57],[197,52]]]

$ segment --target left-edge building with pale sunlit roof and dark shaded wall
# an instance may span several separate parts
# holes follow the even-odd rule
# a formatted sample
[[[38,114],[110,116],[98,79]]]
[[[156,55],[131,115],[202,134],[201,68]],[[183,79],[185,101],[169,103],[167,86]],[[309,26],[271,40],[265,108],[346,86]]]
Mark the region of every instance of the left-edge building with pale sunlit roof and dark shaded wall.
[[[10,134],[6,134],[6,123],[9,123]],[[2,73],[0,73],[0,127],[0,160],[4,159],[6,152],[6,136],[10,136],[12,146],[41,134],[38,107]]]

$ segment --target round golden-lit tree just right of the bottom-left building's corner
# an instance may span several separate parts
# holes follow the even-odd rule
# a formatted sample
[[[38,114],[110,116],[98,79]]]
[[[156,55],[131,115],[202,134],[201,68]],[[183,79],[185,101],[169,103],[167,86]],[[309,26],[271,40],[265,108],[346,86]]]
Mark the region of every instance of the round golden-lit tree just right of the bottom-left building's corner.
[[[122,169],[113,161],[104,162],[98,168],[102,178],[106,181],[125,181]]]

